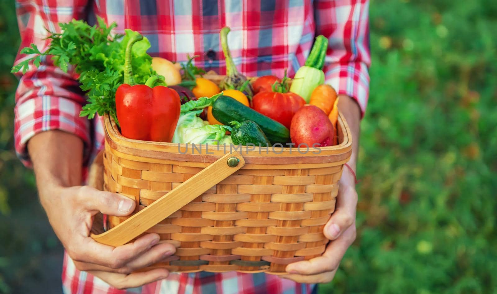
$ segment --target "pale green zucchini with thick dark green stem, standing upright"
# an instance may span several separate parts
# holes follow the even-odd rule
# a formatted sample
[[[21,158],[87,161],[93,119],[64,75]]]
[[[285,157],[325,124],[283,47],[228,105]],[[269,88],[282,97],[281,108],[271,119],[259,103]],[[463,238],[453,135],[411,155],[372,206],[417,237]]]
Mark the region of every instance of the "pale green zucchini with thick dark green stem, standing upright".
[[[290,87],[290,92],[300,95],[307,103],[313,90],[325,82],[323,65],[325,64],[328,39],[319,35],[303,67],[299,68]]]

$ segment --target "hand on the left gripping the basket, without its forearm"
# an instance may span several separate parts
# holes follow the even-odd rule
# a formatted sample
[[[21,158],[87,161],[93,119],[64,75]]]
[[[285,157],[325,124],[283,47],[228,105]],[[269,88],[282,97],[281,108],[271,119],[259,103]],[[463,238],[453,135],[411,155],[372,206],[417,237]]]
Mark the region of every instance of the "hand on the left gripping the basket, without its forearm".
[[[40,199],[44,199],[42,204],[52,228],[81,271],[129,274],[160,262],[175,252],[171,244],[158,244],[158,234],[147,234],[133,243],[115,248],[89,237],[93,216],[98,212],[115,216],[133,212],[135,201],[126,196],[76,186],[56,188],[50,197],[40,195]],[[167,271],[164,276],[167,276]]]

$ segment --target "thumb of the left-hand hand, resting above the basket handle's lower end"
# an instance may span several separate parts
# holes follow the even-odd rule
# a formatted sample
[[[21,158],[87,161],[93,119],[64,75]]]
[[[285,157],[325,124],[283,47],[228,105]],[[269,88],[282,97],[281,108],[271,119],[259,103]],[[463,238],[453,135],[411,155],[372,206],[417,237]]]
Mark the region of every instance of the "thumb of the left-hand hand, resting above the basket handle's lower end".
[[[85,186],[81,199],[89,210],[100,211],[103,214],[126,216],[135,209],[134,199],[111,192],[99,191]]]

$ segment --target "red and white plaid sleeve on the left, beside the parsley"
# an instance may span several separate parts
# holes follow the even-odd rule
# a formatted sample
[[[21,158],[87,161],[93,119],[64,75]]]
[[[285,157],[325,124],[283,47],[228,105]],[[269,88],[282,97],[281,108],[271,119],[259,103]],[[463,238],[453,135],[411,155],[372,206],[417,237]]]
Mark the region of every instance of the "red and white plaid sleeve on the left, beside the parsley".
[[[84,17],[85,1],[16,1],[17,20],[21,35],[20,48],[34,43],[40,51],[48,46],[43,40],[49,31],[59,31],[59,22]],[[29,56],[17,54],[14,64]],[[64,73],[55,67],[50,58],[42,59],[39,68],[30,64],[29,70],[20,77],[15,93],[14,141],[15,150],[26,165],[31,162],[26,150],[28,140],[47,130],[62,130],[79,136],[85,146],[91,146],[89,121],[79,113],[85,103],[77,76]]]

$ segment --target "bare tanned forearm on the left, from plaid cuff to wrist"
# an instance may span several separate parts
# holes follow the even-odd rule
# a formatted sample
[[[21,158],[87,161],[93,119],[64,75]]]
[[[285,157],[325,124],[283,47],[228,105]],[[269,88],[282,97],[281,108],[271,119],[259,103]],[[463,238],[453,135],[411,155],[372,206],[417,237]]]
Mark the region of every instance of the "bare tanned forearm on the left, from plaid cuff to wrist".
[[[44,131],[28,142],[42,204],[50,189],[81,185],[83,141],[60,130]]]

